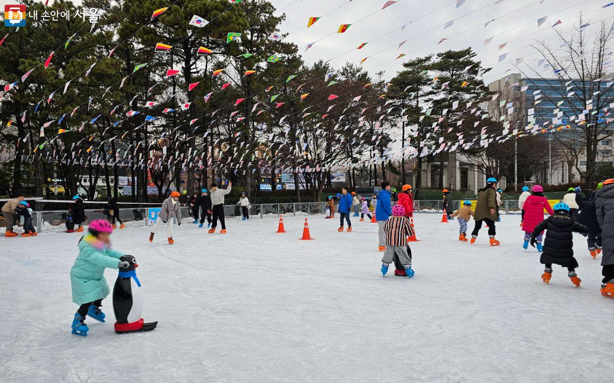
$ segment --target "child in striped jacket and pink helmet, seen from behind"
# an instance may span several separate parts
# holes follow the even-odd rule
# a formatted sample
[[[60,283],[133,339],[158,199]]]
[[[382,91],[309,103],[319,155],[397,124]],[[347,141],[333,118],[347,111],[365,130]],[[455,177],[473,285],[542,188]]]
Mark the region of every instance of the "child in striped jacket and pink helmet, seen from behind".
[[[410,220],[405,218],[405,208],[403,205],[394,205],[392,207],[392,217],[384,224],[384,232],[386,233],[386,251],[382,258],[381,273],[386,276],[388,266],[392,263],[393,257],[396,254],[400,263],[405,268],[405,273],[408,278],[414,276],[414,271],[411,270],[411,258],[407,252],[407,237],[414,234],[411,229]]]

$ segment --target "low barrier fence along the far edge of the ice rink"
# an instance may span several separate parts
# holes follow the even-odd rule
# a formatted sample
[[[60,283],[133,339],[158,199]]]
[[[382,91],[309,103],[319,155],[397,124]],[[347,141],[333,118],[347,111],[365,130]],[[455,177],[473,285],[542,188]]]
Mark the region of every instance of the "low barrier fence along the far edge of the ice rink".
[[[462,205],[462,200],[453,201],[454,210],[457,210]],[[558,202],[558,200],[556,200]],[[556,203],[554,200],[551,203]],[[475,200],[472,201],[475,208]],[[141,204],[142,205],[142,204]],[[150,208],[160,207],[160,204],[150,204]],[[324,214],[326,208],[325,202],[296,202],[296,203],[263,203],[251,205],[249,207],[250,218],[265,218],[276,217],[279,214],[284,216],[298,215],[316,215]],[[86,225],[94,219],[110,219],[108,214],[105,214],[106,209],[86,209],[84,222]],[[188,217],[190,208],[182,207],[182,217]],[[360,210],[360,209],[359,209]],[[372,208],[371,208],[372,210]],[[120,218],[126,223],[126,226],[146,226],[147,225],[147,207],[138,208],[120,208]],[[518,208],[518,201],[504,200],[499,207],[500,214],[521,214]],[[33,211],[32,218],[37,232],[60,232],[66,227],[61,227],[66,222],[66,210],[45,210]],[[241,207],[238,205],[225,205],[224,213],[227,218],[241,216]],[[354,213],[352,211],[351,213]],[[414,213],[443,213],[443,202],[441,200],[415,200]],[[22,222],[23,223],[23,222]]]

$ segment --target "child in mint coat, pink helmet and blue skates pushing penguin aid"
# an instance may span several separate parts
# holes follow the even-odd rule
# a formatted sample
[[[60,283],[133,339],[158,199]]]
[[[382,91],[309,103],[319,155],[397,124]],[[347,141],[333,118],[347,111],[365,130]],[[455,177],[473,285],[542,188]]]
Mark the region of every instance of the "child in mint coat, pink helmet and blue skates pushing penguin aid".
[[[105,315],[100,306],[109,295],[104,269],[130,265],[120,260],[125,255],[123,252],[111,249],[109,235],[113,228],[109,222],[96,219],[87,231],[79,240],[79,256],[71,268],[72,301],[80,305],[72,320],[72,333],[79,336],[87,336],[90,330],[84,322],[86,315],[104,322]]]

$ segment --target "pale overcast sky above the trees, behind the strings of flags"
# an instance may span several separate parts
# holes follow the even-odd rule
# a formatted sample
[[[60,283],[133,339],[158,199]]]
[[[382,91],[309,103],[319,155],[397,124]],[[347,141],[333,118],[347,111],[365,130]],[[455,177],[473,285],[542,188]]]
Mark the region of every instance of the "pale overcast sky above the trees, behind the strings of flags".
[[[271,1],[286,13],[281,32],[290,33],[286,38],[298,45],[307,63],[321,58],[332,59],[332,65],[340,67],[346,61],[358,64],[368,56],[363,68],[371,74],[384,70],[385,78],[394,77],[402,69],[403,59],[472,47],[484,66],[493,67],[484,78],[488,83],[506,73],[518,72],[513,66],[518,58],[535,66],[538,55],[527,45],[537,40],[546,40],[559,48],[561,42],[553,37],[556,34],[552,28],[557,20],[563,22],[556,28],[569,35],[567,31],[578,26],[577,17],[583,12],[584,23],[591,24],[586,27],[591,36],[601,20],[608,23],[614,20],[614,6],[601,8],[611,0],[542,0],[541,4],[540,0],[466,0],[458,8],[456,0],[400,0],[383,10],[381,7],[386,0]],[[328,13],[337,7],[340,8]],[[306,28],[312,16],[322,18]],[[538,27],[538,18],[545,16],[546,21]],[[454,21],[453,25],[444,29],[449,21]],[[336,31],[341,24],[352,26],[338,34]],[[403,25],[407,27],[401,32]],[[484,45],[484,40],[493,36],[491,42]],[[447,40],[437,44],[442,38]],[[407,42],[397,48],[403,40]],[[305,46],[311,42],[316,43],[305,51]],[[357,50],[364,42],[369,44]],[[499,50],[499,45],[504,43],[508,44]],[[395,59],[400,53],[407,56]],[[507,57],[499,63],[499,55],[503,53],[507,53]],[[526,64],[519,64],[519,68],[529,74]],[[506,72],[508,69],[511,71]]]

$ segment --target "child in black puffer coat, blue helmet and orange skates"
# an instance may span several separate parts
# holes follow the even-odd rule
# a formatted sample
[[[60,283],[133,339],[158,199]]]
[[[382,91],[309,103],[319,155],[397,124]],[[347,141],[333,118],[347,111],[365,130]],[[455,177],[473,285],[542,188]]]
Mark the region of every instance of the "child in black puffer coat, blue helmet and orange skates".
[[[542,236],[543,230],[547,230],[542,257],[540,258],[540,262],[546,265],[542,275],[543,281],[550,283],[552,264],[557,264],[561,267],[567,267],[567,270],[569,270],[567,275],[572,283],[576,287],[580,287],[581,279],[575,273],[578,261],[573,257],[573,232],[588,233],[588,227],[573,221],[569,215],[567,203],[557,203],[554,205],[554,215],[535,226],[531,233],[531,246],[535,247],[535,243],[538,243],[537,237]]]

